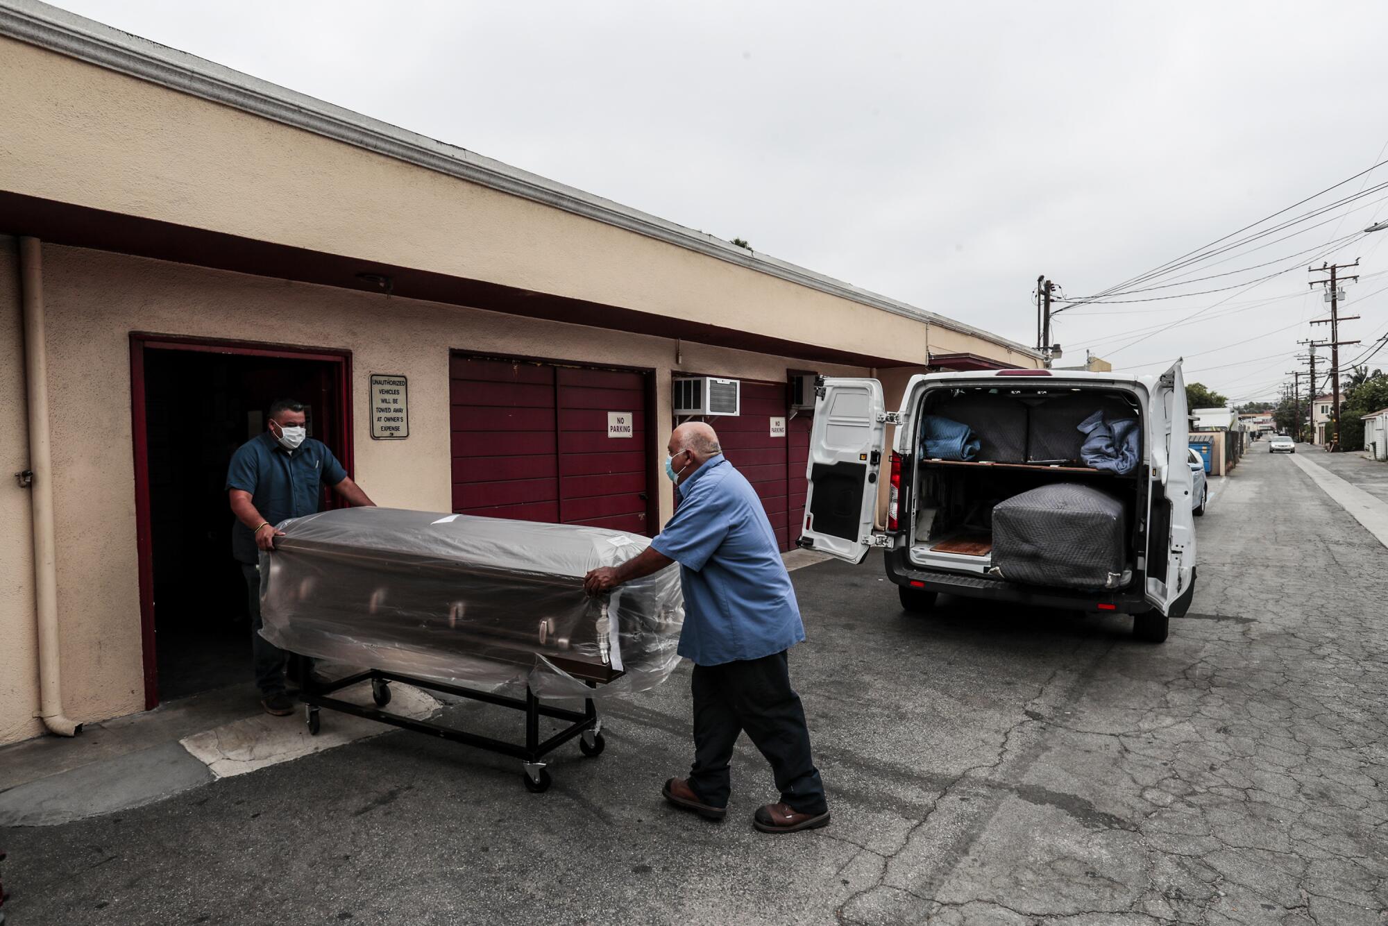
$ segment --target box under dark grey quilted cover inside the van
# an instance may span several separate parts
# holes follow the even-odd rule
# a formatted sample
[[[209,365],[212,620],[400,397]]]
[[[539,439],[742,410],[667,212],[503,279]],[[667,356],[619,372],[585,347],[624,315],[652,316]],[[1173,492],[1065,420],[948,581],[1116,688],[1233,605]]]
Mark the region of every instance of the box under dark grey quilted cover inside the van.
[[[992,507],[992,571],[1065,589],[1116,589],[1124,575],[1127,516],[1113,496],[1070,482]]]

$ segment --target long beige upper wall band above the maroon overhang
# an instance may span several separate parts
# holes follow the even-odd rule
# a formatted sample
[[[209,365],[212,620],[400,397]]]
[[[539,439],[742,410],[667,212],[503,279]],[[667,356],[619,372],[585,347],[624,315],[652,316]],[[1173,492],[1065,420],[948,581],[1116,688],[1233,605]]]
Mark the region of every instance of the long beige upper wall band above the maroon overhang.
[[[0,125],[0,189],[28,196],[901,362],[933,348],[1034,365],[973,335],[4,37]]]

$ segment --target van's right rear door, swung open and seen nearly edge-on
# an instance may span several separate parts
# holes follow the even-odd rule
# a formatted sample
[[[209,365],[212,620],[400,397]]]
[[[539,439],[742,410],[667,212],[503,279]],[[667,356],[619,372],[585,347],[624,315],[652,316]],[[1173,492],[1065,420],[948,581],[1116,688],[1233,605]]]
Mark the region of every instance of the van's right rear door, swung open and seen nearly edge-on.
[[[1191,607],[1195,582],[1195,514],[1191,468],[1185,464],[1190,418],[1181,361],[1156,379],[1148,421],[1152,508],[1148,512],[1146,600],[1162,614],[1180,618]]]

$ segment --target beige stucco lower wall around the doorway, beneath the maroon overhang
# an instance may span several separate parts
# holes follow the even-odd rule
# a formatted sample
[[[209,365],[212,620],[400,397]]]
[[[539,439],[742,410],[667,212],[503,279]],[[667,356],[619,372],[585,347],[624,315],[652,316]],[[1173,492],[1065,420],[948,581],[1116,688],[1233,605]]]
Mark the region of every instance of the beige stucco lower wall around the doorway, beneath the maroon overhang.
[[[12,251],[12,247],[11,247]],[[0,275],[0,360],[21,342],[11,290],[12,257]],[[196,337],[261,340],[353,351],[354,453],[358,482],[382,505],[448,511],[448,351],[547,357],[584,364],[655,371],[657,428],[670,428],[670,375],[676,343],[661,337],[526,319],[383,294],[290,283],[132,258],[85,249],[44,246],[44,296],[49,328],[50,403],[54,446],[54,504],[58,536],[58,607],[64,707],[76,721],[139,711],[142,675],[135,472],[132,457],[132,330]],[[389,319],[389,323],[383,323]],[[851,367],[826,367],[786,357],[683,343],[686,371],[784,380],[787,369],[865,375]],[[22,380],[0,371],[22,394]],[[411,436],[373,441],[369,435],[368,375],[409,378]],[[17,394],[11,392],[11,394]],[[24,432],[22,407],[6,408],[0,426]],[[15,416],[18,415],[18,416]],[[24,441],[6,441],[6,461],[24,468]],[[36,655],[28,561],[28,501],[4,490],[0,603],[14,615],[19,646],[0,647],[4,684],[0,739],[36,732],[33,714]],[[661,519],[670,514],[662,493]],[[229,554],[228,554],[229,555]],[[6,628],[10,629],[10,628]]]

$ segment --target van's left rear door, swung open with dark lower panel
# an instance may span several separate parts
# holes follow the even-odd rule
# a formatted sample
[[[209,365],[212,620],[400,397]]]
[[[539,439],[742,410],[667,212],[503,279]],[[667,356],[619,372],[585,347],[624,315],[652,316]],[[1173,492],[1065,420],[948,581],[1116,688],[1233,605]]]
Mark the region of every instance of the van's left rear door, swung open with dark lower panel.
[[[862,562],[877,514],[886,404],[876,379],[826,379],[809,435],[799,546]]]

